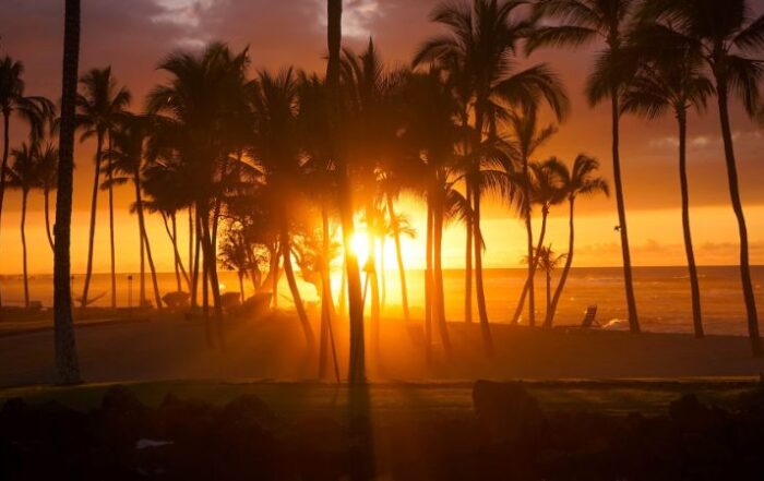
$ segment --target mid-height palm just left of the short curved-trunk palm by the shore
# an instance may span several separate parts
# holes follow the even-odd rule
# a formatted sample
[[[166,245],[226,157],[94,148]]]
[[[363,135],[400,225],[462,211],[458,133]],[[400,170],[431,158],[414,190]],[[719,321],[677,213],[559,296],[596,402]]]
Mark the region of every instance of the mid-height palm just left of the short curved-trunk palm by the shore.
[[[539,128],[538,113],[535,108],[524,112],[512,112],[509,117],[509,127],[511,135],[515,142],[515,148],[522,165],[522,173],[520,184],[523,196],[521,199],[532,199],[532,181],[530,181],[530,161],[538,148],[544,146],[558,132],[557,127],[547,125]],[[525,230],[527,233],[528,258],[533,257],[534,248],[534,231],[533,231],[533,202],[521,203],[521,216],[525,221]],[[516,324],[520,315],[523,312],[525,297],[528,296],[528,325],[536,325],[536,294],[534,282],[535,267],[533,263],[528,263],[528,276],[525,280],[525,286],[517,302],[517,309],[512,317],[512,324]]]

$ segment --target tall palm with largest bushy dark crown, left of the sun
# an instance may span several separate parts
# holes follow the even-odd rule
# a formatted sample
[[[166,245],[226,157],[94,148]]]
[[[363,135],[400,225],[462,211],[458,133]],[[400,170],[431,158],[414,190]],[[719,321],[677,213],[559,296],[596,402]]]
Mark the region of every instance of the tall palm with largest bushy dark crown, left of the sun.
[[[219,180],[226,178],[224,166],[240,147],[239,128],[250,113],[248,65],[247,50],[234,53],[224,44],[210,44],[200,53],[176,51],[159,64],[170,75],[169,81],[154,87],[146,100],[148,113],[156,116],[150,157],[179,163],[184,172],[180,187],[193,199],[205,273],[203,293],[208,286],[220,346],[225,345],[223,304],[213,242],[215,226],[211,224],[217,218],[213,213],[222,195]],[[207,318],[207,303],[204,305]]]

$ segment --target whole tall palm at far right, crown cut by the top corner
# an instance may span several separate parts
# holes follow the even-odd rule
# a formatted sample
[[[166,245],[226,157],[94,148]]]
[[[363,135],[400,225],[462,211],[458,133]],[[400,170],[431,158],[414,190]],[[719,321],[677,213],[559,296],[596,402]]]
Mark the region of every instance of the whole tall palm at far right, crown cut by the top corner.
[[[749,0],[649,0],[643,20],[658,22],[666,35],[689,44],[703,56],[716,88],[721,139],[725,146],[727,181],[740,236],[740,277],[748,313],[751,350],[764,356],[759,332],[759,313],[751,280],[748,226],[740,199],[735,140],[729,118],[730,97],[737,96],[749,115],[754,115],[764,64],[750,57],[764,49],[764,15],[753,16]]]

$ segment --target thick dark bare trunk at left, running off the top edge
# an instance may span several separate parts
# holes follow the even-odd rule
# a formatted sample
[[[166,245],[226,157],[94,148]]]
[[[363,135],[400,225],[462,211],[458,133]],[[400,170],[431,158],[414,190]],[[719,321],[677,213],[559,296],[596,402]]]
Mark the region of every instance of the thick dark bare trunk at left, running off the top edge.
[[[80,376],[80,362],[72,318],[70,246],[72,233],[74,129],[76,128],[75,99],[80,64],[80,0],[67,0],[64,19],[59,172],[55,224],[53,328],[58,382],[61,384],[76,384],[82,382],[82,377]],[[5,146],[8,146],[8,141]],[[5,163],[3,160],[3,173],[4,169]],[[0,176],[3,179],[4,177]],[[2,192],[0,192],[1,197]],[[0,212],[2,212],[1,208]]]

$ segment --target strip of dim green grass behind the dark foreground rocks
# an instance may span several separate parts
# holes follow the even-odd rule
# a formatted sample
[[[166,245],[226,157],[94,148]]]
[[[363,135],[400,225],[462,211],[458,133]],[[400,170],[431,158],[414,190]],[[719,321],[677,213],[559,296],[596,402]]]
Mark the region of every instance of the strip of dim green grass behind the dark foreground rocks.
[[[625,414],[666,412],[668,405],[689,393],[719,406],[732,406],[739,396],[755,387],[748,380],[714,381],[621,381],[621,382],[536,382],[526,384],[549,411],[596,411]],[[154,382],[131,383],[130,389],[148,406],[158,406],[169,393],[180,397],[224,405],[244,395],[261,397],[285,418],[305,414],[342,416],[353,399],[361,397],[374,416],[427,413],[459,416],[473,410],[471,383],[372,384],[366,389],[319,383],[276,382]],[[32,386],[0,389],[0,402],[23,397],[37,404],[56,400],[75,409],[98,406],[109,384],[73,387]]]

